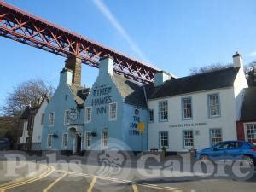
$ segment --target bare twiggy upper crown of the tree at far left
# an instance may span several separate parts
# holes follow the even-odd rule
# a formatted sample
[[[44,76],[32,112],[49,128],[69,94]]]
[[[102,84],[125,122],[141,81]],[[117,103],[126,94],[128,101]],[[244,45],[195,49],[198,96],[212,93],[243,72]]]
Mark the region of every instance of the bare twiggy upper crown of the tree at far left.
[[[53,95],[54,90],[51,84],[45,83],[41,79],[28,80],[14,87],[0,110],[6,116],[20,116],[26,106],[36,107],[38,99],[45,95]]]

